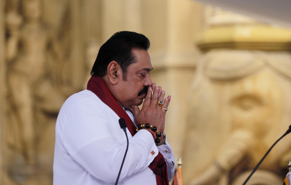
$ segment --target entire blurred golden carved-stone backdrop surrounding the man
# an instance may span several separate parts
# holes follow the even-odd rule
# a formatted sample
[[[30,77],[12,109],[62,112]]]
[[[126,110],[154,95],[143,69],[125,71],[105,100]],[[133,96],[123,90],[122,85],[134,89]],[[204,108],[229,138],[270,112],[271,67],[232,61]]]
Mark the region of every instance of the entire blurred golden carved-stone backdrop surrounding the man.
[[[184,184],[242,184],[291,123],[291,6],[201,0],[0,0],[0,184],[52,184],[55,121],[117,31],[146,35],[171,95]],[[282,184],[282,139],[249,184]]]

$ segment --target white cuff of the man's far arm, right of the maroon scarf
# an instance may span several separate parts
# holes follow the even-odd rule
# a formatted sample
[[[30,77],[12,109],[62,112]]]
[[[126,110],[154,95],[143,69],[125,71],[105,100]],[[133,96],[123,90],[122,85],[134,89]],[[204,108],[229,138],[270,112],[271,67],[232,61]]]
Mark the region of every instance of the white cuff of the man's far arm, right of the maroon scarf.
[[[165,133],[165,136],[166,136],[166,133]],[[174,173],[175,173],[175,158],[174,158],[172,148],[167,141],[167,137],[166,137],[166,144],[158,146],[158,150],[164,156],[165,161],[167,163],[168,178],[170,182],[172,178],[174,177]]]

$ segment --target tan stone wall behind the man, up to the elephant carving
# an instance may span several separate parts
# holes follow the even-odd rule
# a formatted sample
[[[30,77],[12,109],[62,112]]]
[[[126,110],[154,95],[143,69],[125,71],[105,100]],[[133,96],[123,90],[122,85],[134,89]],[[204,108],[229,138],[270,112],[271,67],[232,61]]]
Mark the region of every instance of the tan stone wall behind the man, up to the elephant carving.
[[[186,101],[199,57],[193,41],[202,25],[200,4],[0,2],[0,184],[52,184],[58,111],[68,96],[85,88],[101,44],[121,30],[141,32],[151,41],[152,80],[172,95],[166,132],[174,153],[181,155],[185,124],[177,123],[185,122],[186,107],[179,107]]]

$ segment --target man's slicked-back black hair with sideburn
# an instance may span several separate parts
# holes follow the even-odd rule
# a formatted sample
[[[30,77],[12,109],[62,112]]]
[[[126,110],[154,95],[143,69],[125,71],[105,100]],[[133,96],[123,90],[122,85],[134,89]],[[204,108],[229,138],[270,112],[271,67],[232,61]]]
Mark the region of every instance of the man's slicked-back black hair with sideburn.
[[[119,31],[113,34],[99,49],[97,58],[91,70],[91,75],[103,77],[107,73],[107,66],[111,61],[116,61],[126,79],[127,68],[136,62],[132,49],[148,50],[149,39],[132,31]]]

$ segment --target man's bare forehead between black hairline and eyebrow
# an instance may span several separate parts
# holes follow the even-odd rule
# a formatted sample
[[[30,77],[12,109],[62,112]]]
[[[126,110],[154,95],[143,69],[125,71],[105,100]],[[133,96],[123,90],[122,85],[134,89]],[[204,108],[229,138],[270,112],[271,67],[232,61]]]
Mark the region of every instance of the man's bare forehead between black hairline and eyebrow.
[[[136,62],[130,65],[131,68],[135,70],[152,70],[151,58],[146,50],[132,49],[132,55],[134,55]]]

